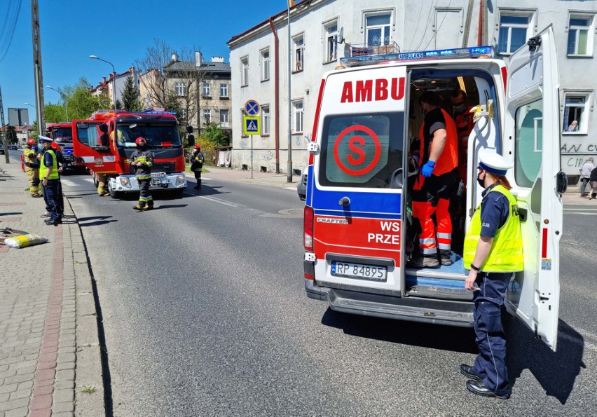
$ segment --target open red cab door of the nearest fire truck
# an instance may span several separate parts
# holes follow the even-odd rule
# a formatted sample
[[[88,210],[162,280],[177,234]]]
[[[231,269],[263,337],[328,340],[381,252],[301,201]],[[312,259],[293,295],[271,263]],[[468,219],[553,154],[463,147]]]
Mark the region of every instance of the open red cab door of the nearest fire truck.
[[[77,165],[84,165],[97,174],[112,174],[117,170],[116,156],[111,151],[101,121],[73,121],[73,150]]]

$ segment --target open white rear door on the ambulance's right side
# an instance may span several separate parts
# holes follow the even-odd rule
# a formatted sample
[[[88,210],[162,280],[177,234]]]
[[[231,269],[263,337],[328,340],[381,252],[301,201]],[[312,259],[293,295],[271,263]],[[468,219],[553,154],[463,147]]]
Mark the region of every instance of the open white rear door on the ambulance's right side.
[[[505,300],[509,313],[552,350],[558,339],[560,238],[566,179],[560,170],[558,67],[548,27],[509,59],[505,151],[514,154],[512,193],[518,200],[524,271]],[[510,177],[512,178],[512,177]]]

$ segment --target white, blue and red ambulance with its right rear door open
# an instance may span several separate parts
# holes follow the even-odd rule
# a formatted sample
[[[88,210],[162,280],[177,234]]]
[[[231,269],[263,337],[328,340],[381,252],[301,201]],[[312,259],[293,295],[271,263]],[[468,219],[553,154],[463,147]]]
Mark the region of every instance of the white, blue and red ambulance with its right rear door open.
[[[308,146],[306,294],[344,313],[472,327],[462,246],[483,191],[479,151],[493,149],[514,162],[507,178],[524,242],[524,271],[510,282],[505,308],[556,350],[568,184],[556,60],[548,27],[507,65],[491,47],[474,47],[347,57],[324,74]],[[474,105],[476,123],[462,161],[466,178],[451,197],[453,264],[410,268],[418,242],[410,203],[420,175],[413,163],[423,123],[418,97],[431,90],[449,103],[457,88]]]

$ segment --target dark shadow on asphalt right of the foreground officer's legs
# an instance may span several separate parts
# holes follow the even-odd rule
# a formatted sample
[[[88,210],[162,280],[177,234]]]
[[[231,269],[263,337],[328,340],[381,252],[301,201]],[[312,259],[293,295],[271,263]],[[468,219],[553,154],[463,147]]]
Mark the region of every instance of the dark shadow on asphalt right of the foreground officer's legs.
[[[556,397],[561,404],[565,404],[580,369],[586,368],[582,362],[582,336],[560,320],[558,351],[554,352],[545,343],[536,340],[533,333],[516,320],[512,320],[506,333],[508,374],[513,385],[516,385],[516,378],[528,369],[547,395]]]

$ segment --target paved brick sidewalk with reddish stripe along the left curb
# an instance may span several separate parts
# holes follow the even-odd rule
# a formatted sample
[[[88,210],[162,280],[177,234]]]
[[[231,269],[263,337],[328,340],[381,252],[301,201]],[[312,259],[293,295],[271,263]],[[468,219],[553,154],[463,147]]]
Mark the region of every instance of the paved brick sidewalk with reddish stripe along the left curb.
[[[43,235],[22,249],[0,245],[0,417],[103,416],[97,313],[87,254],[64,199],[47,226],[20,161],[0,160],[0,229]],[[2,234],[4,236],[4,234]]]

